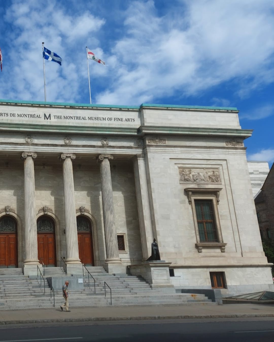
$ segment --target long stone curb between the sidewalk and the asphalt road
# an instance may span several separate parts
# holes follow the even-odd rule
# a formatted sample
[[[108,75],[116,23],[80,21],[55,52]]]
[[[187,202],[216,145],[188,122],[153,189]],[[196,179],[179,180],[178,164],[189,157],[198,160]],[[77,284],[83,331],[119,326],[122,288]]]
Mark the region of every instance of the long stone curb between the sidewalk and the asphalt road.
[[[64,322],[97,322],[97,321],[134,321],[159,319],[203,319],[203,318],[247,318],[274,317],[273,314],[221,314],[221,315],[176,315],[176,316],[132,316],[132,317],[88,317],[88,318],[50,318],[50,319],[20,319],[0,321],[0,325],[34,324],[34,323],[64,323]]]

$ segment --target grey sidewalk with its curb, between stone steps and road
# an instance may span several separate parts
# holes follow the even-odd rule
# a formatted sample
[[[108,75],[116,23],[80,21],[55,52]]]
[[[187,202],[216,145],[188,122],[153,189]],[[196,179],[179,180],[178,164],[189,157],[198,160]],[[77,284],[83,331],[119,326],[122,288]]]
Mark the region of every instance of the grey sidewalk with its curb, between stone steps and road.
[[[117,321],[182,318],[274,317],[274,305],[227,304],[195,306],[108,306],[78,307],[71,312],[55,308],[32,310],[0,310],[0,325],[83,321]]]

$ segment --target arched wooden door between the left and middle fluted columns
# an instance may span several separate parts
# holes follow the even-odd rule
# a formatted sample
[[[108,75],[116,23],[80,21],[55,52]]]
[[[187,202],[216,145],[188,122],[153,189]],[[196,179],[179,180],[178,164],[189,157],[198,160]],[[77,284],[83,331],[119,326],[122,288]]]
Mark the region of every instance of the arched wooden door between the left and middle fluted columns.
[[[48,267],[56,266],[55,224],[48,216],[37,220],[38,259]]]

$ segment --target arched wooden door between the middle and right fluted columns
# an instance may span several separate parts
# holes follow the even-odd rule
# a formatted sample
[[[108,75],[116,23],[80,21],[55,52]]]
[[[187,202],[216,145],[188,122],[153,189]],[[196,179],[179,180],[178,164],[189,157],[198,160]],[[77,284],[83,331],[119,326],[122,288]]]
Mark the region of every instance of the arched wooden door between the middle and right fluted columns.
[[[84,216],[77,217],[79,258],[82,264],[94,266],[92,248],[92,229],[90,221]]]

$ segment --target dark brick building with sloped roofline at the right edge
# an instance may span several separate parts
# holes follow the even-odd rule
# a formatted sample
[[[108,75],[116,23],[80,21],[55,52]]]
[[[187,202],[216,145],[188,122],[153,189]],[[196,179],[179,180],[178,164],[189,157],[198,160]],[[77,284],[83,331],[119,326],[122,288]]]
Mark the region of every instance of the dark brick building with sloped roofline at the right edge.
[[[255,197],[255,205],[262,239],[274,242],[274,164]]]

